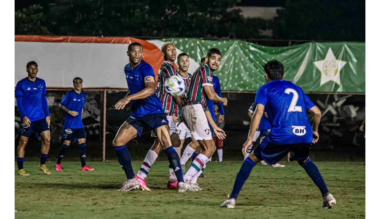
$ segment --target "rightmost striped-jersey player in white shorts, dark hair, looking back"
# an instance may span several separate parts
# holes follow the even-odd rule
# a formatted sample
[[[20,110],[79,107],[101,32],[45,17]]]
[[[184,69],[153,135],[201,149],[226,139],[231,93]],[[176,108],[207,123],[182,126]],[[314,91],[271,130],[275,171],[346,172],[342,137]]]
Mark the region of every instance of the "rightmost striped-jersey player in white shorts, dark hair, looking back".
[[[182,108],[182,118],[184,118],[184,122],[190,129],[193,138],[198,141],[203,150],[194,159],[190,169],[184,176],[186,186],[191,186],[191,179],[204,170],[209,158],[211,158],[216,149],[212,140],[212,133],[206,121],[206,113],[210,113],[207,109],[208,99],[223,102],[223,105],[227,105],[227,99],[220,98],[212,87],[212,71],[219,67],[222,54],[219,49],[211,48],[207,52],[207,58],[207,63],[194,72],[185,97],[184,107]],[[211,121],[210,124],[214,128],[215,134],[218,135],[217,132],[224,132],[216,126],[214,121]]]

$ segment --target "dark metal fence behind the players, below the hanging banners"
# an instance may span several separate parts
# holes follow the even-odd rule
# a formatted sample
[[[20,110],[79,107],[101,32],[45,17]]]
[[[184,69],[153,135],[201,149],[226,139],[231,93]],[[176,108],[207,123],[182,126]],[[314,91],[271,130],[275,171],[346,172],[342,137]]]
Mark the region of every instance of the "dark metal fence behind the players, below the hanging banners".
[[[63,129],[63,110],[58,108],[67,89],[48,89],[47,101],[51,115],[51,147],[49,161],[57,159],[58,150],[62,145],[60,136]],[[115,89],[84,89],[87,94],[82,121],[86,130],[87,160],[108,161],[116,160],[117,156],[112,147],[119,126],[127,119],[130,107],[123,110],[114,109],[114,104],[122,99],[127,90]],[[322,112],[319,126],[320,140],[312,147],[310,157],[315,161],[364,161],[365,138],[359,126],[365,115],[365,94],[308,94]],[[223,160],[241,161],[241,145],[247,139],[250,104],[254,101],[255,93],[223,92],[228,98],[225,107],[225,128],[227,137],[223,142]],[[15,102],[15,153],[19,141],[18,126],[19,112]],[[40,157],[42,142],[40,137],[32,135],[25,148],[25,160],[37,160]],[[152,146],[154,138],[150,131],[142,133],[140,138],[133,139],[127,144],[133,160],[143,160],[146,152]],[[184,147],[189,140],[185,141]],[[183,150],[183,149],[182,149]],[[78,143],[71,143],[65,153],[65,161],[79,161]],[[166,160],[165,155],[158,159]],[[214,154],[217,160],[217,153]]]

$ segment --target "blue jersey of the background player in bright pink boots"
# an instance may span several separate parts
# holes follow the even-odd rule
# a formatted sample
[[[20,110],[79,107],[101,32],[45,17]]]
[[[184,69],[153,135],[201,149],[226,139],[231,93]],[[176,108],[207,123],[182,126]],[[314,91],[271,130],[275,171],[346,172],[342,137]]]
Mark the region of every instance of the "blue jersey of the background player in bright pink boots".
[[[84,107],[85,101],[86,101],[86,94],[83,92],[76,93],[73,89],[66,93],[65,97],[61,101],[61,104],[70,111],[78,112],[78,115],[73,117],[68,112],[65,112],[65,122],[63,123],[63,128],[70,128],[70,129],[83,128],[82,109]]]

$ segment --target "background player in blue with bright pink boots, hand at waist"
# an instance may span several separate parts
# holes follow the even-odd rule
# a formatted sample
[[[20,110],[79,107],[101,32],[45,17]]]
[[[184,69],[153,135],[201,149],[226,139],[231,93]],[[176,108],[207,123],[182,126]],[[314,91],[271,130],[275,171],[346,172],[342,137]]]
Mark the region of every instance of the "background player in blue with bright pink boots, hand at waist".
[[[93,170],[86,165],[86,132],[83,128],[82,113],[86,94],[82,92],[83,80],[76,77],[73,80],[74,89],[68,91],[59,104],[59,108],[65,110],[65,122],[63,123],[63,132],[61,139],[64,140],[62,147],[58,152],[57,164],[55,169],[62,171],[61,160],[63,154],[69,148],[71,140],[78,140],[79,158],[81,159],[82,171]],[[69,110],[70,109],[70,110]]]

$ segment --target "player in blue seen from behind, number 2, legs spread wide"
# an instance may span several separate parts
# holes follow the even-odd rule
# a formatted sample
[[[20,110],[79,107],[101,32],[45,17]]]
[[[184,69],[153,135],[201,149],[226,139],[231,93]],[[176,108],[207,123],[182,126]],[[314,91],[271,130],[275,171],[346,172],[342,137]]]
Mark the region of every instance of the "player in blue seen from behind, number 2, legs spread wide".
[[[261,160],[275,164],[289,151],[293,151],[294,155],[290,160],[296,160],[318,186],[323,196],[322,208],[331,208],[336,204],[336,200],[327,189],[318,167],[309,158],[310,147],[312,143],[317,143],[319,138],[318,125],[321,111],[300,87],[290,81],[282,80],[284,67],[279,61],[269,61],[263,67],[267,83],[257,90],[254,102],[256,109],[251,120],[248,139],[242,147],[243,155],[252,143],[264,111],[268,114],[272,129],[260,145],[255,147],[253,153],[244,160],[236,175],[229,199],[220,207],[235,207],[237,195],[255,164]],[[307,111],[313,115],[312,126],[307,118]]]

